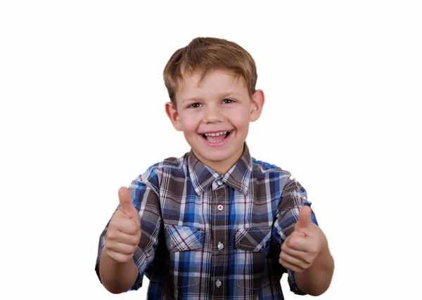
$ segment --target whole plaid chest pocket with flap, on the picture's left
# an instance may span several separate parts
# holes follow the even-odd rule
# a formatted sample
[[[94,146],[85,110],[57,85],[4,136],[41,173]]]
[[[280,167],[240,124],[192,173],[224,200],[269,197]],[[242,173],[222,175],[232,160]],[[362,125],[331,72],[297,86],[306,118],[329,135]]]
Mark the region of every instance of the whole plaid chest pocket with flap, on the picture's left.
[[[170,284],[187,288],[199,284],[205,230],[192,226],[164,224],[165,243],[170,252]],[[189,291],[193,289],[189,288]],[[183,291],[179,291],[183,292]]]

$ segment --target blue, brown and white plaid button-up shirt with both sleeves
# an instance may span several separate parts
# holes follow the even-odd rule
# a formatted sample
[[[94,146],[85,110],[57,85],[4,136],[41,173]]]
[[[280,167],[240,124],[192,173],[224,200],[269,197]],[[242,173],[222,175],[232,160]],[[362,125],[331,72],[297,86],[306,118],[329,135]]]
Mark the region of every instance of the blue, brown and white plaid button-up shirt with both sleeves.
[[[132,289],[141,287],[145,274],[148,299],[283,299],[281,244],[300,208],[310,204],[290,173],[250,157],[245,144],[225,175],[191,151],[154,164],[129,191],[141,216]],[[98,245],[98,278],[107,226]],[[288,282],[304,294],[290,271]]]

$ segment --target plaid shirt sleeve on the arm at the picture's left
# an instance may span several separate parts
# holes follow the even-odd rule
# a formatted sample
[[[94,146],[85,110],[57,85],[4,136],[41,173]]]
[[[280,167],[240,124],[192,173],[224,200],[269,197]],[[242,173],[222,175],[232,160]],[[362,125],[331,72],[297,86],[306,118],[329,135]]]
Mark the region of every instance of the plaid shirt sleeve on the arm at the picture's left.
[[[162,218],[160,214],[160,200],[158,189],[158,178],[153,171],[147,171],[145,174],[132,181],[129,186],[129,192],[132,196],[132,204],[141,217],[141,240],[134,253],[134,263],[138,267],[139,274],[134,285],[129,290],[136,290],[142,286],[143,274],[146,268],[151,265],[155,257],[155,250],[158,247],[158,236],[162,226]],[[117,206],[120,209],[120,205]],[[116,209],[116,210],[117,210]],[[100,278],[99,263],[101,255],[106,246],[107,229],[110,221],[108,221],[106,228],[101,233],[98,243],[98,255],[96,259],[96,274]]]

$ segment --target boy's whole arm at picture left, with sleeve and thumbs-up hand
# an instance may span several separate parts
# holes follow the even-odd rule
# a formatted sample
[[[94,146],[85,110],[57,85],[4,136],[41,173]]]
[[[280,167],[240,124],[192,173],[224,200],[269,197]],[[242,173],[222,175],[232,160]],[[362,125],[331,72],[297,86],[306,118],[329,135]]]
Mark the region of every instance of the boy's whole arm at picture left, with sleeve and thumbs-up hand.
[[[141,178],[151,181],[156,179],[153,172],[143,176]],[[143,273],[153,262],[158,246],[162,225],[158,190],[141,178],[129,187],[127,209],[120,200],[98,245],[96,273],[103,286],[113,294],[141,287]],[[128,213],[131,206],[134,211]],[[115,221],[117,216],[120,219]]]

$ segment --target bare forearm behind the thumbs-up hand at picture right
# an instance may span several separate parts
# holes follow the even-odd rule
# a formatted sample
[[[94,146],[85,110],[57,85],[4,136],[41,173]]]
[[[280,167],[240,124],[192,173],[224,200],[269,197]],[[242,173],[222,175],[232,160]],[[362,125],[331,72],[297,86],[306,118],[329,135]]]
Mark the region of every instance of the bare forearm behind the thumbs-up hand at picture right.
[[[301,273],[295,273],[298,287],[312,296],[324,294],[331,284],[334,272],[334,260],[328,246],[319,253],[312,266]]]

